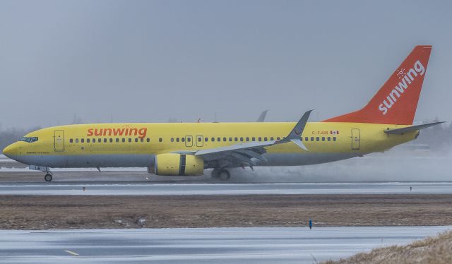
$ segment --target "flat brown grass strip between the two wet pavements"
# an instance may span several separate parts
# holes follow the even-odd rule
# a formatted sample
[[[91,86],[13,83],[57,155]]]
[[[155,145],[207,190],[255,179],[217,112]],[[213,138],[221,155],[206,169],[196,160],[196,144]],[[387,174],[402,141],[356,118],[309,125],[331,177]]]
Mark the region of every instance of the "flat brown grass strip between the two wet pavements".
[[[0,229],[452,225],[452,195],[0,196]]]

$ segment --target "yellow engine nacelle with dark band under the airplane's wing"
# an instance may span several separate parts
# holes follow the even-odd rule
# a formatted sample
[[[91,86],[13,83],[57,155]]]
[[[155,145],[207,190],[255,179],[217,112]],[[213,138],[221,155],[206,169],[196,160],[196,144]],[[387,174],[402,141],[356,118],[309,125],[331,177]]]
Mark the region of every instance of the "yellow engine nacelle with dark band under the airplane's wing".
[[[155,155],[155,175],[196,176],[204,173],[204,160],[195,155],[166,153]]]

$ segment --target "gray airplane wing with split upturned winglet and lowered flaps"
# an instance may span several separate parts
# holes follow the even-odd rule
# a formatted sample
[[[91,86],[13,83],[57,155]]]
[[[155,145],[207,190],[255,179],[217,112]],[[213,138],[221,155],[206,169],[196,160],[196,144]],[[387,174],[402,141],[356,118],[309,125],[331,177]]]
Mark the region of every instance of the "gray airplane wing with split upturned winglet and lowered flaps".
[[[309,119],[309,114],[312,110],[304,113],[302,118],[298,121],[295,127],[290,131],[287,137],[282,140],[270,140],[270,141],[253,141],[249,143],[239,143],[236,145],[230,145],[221,148],[211,148],[208,150],[198,150],[194,152],[194,155],[202,157],[207,162],[217,162],[218,167],[253,167],[258,162],[267,162],[266,157],[263,156],[266,153],[266,147],[294,142],[299,145],[300,148],[307,150],[304,147],[300,136],[304,131],[304,127]]]

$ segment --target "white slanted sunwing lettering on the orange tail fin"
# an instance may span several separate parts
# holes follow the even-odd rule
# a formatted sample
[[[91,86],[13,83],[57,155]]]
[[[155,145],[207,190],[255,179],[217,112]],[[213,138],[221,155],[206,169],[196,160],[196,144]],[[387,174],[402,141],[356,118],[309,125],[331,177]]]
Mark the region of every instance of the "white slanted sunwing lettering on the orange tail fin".
[[[410,84],[415,80],[418,73],[421,76],[424,75],[425,68],[420,61],[416,61],[413,68],[410,68],[410,70],[407,73],[404,73],[403,71],[404,69],[401,69],[400,71],[398,70],[397,76],[399,76],[399,78],[401,78],[402,80],[398,83],[398,85],[396,85],[396,87],[391,92],[389,92],[388,97],[386,97],[386,99],[383,100],[383,103],[379,105],[379,110],[383,114],[386,114],[388,112],[388,109],[393,107],[393,105],[396,104],[397,99],[403,95],[403,92],[405,92],[405,90],[408,90]]]

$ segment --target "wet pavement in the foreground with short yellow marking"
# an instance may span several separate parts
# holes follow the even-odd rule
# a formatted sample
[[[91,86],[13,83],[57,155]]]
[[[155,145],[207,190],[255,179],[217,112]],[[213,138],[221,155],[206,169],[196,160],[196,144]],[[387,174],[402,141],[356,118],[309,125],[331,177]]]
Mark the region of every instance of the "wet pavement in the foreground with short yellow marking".
[[[452,227],[0,231],[0,263],[315,263]]]

